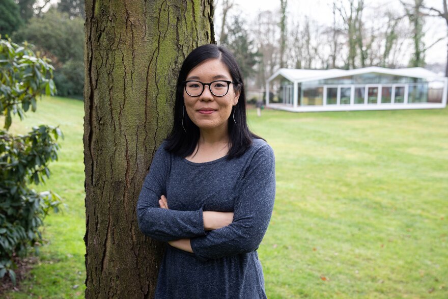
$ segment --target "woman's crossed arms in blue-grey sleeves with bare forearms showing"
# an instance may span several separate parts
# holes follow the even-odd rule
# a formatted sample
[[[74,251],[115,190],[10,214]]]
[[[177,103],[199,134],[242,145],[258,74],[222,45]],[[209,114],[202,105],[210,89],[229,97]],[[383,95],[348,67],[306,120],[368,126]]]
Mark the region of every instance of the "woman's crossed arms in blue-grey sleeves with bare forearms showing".
[[[177,211],[162,196],[168,172],[157,150],[137,202],[141,231],[154,239],[193,253],[200,260],[256,250],[267,230],[275,197],[274,156],[269,146],[254,154],[238,189],[233,213]]]

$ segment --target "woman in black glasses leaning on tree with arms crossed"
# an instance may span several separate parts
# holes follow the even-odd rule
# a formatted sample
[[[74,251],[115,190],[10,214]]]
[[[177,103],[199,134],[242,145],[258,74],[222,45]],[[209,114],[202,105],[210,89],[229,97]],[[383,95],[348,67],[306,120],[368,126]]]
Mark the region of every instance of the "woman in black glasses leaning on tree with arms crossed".
[[[266,298],[256,250],[274,197],[274,154],[247,127],[234,57],[213,44],[194,49],[137,203],[142,232],[167,242],[155,297]]]

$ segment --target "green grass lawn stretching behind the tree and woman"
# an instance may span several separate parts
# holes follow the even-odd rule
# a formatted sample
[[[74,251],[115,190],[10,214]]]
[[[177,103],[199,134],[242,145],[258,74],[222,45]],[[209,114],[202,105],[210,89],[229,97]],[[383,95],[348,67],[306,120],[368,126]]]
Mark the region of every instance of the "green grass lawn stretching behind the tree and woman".
[[[60,124],[65,134],[41,189],[68,208],[48,216],[40,263],[5,296],[83,297],[83,103],[44,98],[28,115],[13,129]],[[448,297],[448,109],[250,110],[249,125],[276,156],[258,250],[268,298]]]

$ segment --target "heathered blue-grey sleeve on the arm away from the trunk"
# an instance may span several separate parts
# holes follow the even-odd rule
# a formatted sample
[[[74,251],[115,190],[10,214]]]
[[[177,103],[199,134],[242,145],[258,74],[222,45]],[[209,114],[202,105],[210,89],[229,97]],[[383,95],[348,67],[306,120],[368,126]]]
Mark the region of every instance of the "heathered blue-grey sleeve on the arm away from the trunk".
[[[266,233],[275,198],[275,157],[268,144],[255,152],[238,189],[229,226],[191,238],[194,255],[215,259],[256,250]]]

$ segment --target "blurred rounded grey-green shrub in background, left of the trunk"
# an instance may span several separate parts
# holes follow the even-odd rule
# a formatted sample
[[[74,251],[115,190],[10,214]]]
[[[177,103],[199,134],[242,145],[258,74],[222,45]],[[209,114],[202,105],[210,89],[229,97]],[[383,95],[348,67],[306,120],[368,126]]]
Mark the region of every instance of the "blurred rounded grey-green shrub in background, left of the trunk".
[[[15,41],[36,45],[55,65],[55,84],[60,96],[82,96],[84,84],[84,21],[50,9],[13,35]]]

